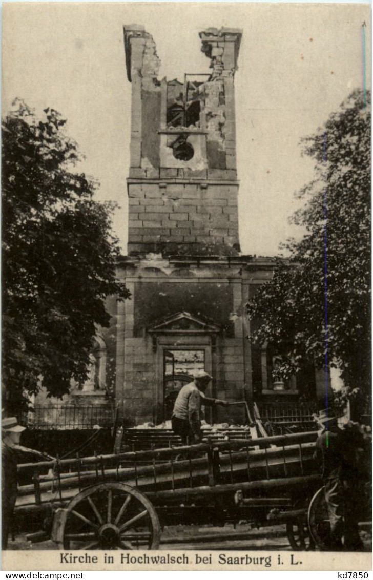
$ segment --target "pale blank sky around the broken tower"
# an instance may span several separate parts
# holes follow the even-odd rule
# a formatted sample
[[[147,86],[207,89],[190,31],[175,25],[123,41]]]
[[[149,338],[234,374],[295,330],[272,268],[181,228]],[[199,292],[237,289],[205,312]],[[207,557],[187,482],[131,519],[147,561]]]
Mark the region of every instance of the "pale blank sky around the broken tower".
[[[97,198],[118,201],[114,231],[126,252],[131,84],[124,24],[143,24],[162,61],[160,78],[208,73],[198,32],[242,28],[235,76],[242,253],[270,256],[302,231],[289,216],[295,192],[314,175],[300,139],[317,131],[363,88],[370,5],[270,3],[8,3],[3,5],[2,110],[15,97],[55,108],[85,154],[79,169],[100,182]],[[366,55],[367,86],[371,60]]]

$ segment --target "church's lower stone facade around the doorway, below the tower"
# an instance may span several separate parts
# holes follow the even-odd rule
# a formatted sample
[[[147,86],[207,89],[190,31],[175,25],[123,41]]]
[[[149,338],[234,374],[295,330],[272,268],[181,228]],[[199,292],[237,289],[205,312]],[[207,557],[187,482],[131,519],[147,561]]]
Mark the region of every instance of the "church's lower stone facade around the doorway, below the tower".
[[[120,265],[132,292],[120,308],[116,399],[127,424],[165,418],[164,357],[169,350],[204,351],[211,396],[252,400],[249,328],[244,316],[250,285],[268,280],[268,260],[250,258],[127,258]],[[117,342],[119,347],[119,340]],[[245,421],[224,409],[214,420]]]

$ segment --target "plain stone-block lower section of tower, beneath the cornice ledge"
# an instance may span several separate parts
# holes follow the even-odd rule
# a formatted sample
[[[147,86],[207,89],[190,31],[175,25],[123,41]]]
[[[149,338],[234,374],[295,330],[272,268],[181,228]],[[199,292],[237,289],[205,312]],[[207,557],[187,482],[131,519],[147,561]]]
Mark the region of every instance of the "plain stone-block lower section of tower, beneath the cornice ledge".
[[[237,194],[238,184],[129,183],[129,255],[237,255]]]

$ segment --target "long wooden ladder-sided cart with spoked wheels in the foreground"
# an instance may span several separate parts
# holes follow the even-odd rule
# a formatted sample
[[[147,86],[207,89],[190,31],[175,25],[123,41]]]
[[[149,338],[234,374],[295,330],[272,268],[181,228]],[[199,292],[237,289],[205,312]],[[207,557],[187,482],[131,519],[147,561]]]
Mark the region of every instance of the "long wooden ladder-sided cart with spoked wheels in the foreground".
[[[16,518],[28,539],[59,549],[157,549],[163,525],[287,523],[305,549],[317,433],[208,441],[176,448],[19,466]],[[49,475],[45,473],[49,470]],[[41,529],[39,529],[41,528]]]

